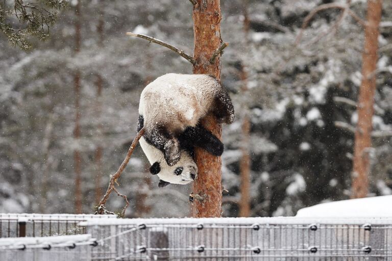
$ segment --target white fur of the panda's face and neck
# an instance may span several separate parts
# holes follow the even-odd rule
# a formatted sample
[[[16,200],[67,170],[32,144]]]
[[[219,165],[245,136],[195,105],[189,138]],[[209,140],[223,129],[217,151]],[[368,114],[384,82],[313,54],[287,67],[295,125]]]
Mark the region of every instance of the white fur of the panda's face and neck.
[[[146,142],[143,137],[140,138],[139,143],[150,164],[153,165],[155,162],[159,163],[161,171],[157,175],[160,179],[173,184],[186,185],[193,181],[193,179],[190,177],[190,172],[194,172],[197,175],[198,167],[187,151],[181,151],[180,161],[174,166],[169,166],[167,165],[161,150]],[[183,167],[184,170],[180,175],[177,176],[174,174],[174,171],[178,167]]]

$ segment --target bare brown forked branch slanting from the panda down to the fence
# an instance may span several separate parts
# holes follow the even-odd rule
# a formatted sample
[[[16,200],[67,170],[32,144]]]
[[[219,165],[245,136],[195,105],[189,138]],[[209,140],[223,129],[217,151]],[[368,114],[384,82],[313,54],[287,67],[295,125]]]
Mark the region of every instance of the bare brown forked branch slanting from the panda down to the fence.
[[[95,214],[100,214],[100,215],[103,214],[106,201],[108,200],[110,193],[112,193],[112,191],[114,191],[115,193],[117,193],[118,196],[124,198],[126,201],[126,205],[121,210],[121,215],[125,215],[125,211],[126,211],[127,207],[129,206],[127,196],[119,193],[117,191],[117,189],[115,188],[114,184],[117,183],[117,179],[121,176],[121,173],[125,169],[125,167],[127,167],[128,162],[131,159],[131,155],[132,155],[133,151],[135,150],[136,145],[139,142],[141,136],[143,136],[143,134],[144,134],[144,127],[140,129],[140,131],[137,133],[135,139],[133,139],[131,147],[128,150],[127,156],[125,157],[124,161],[121,163],[121,165],[118,168],[118,170],[116,171],[116,173],[114,173],[113,175],[110,176],[108,189],[107,189],[104,197],[101,199],[100,203],[98,204],[98,210],[95,212]]]

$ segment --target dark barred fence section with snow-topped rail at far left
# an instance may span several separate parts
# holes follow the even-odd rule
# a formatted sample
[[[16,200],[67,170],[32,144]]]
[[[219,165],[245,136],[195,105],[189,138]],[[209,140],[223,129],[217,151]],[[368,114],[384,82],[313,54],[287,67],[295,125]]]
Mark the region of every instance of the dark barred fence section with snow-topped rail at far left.
[[[0,213],[0,238],[43,237],[85,233],[78,223],[88,219],[108,220],[115,215],[4,214]]]

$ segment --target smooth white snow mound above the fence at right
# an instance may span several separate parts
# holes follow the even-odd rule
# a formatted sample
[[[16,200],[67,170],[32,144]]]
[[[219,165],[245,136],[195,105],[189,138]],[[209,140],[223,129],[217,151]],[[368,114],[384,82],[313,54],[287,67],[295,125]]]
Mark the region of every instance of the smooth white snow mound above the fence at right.
[[[392,217],[392,196],[379,196],[341,200],[302,208],[296,217],[300,218],[374,218]]]

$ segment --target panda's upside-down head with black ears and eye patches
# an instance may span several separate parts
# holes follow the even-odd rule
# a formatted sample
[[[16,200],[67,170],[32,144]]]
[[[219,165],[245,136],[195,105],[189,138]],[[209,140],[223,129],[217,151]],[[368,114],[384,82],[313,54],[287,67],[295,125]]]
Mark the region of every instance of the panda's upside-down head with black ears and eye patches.
[[[181,151],[181,159],[174,166],[169,166],[165,159],[161,158],[150,167],[151,174],[158,175],[158,187],[162,188],[170,183],[186,185],[198,176],[198,166],[192,156],[186,150]]]

